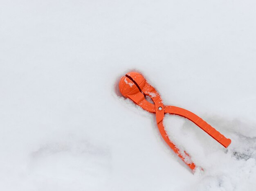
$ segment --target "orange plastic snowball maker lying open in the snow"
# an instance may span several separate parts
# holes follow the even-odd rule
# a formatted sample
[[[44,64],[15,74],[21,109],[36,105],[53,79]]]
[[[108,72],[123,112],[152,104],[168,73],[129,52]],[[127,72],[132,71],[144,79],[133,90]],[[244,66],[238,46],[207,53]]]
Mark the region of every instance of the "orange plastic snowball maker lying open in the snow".
[[[225,148],[227,148],[231,143],[229,138],[226,138],[224,135],[220,134],[220,132],[211,127],[211,125],[206,123],[196,114],[175,106],[164,105],[160,95],[157,93],[155,88],[153,88],[146,81],[143,75],[138,72],[128,72],[124,77],[121,77],[119,82],[119,90],[124,97],[131,99],[144,110],[155,113],[157,126],[162,137],[164,138],[164,141],[192,170],[195,169],[196,165],[191,161],[189,154],[186,153],[186,151],[180,151],[180,149],[178,149],[169,139],[166,131],[164,130],[163,119],[165,113],[180,115],[189,119],[195,123],[195,125],[198,125],[198,127],[207,132],[207,134],[209,134]],[[148,95],[153,100],[154,104],[146,100],[146,95]]]

